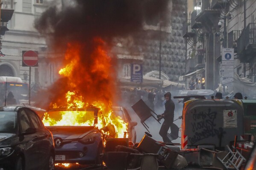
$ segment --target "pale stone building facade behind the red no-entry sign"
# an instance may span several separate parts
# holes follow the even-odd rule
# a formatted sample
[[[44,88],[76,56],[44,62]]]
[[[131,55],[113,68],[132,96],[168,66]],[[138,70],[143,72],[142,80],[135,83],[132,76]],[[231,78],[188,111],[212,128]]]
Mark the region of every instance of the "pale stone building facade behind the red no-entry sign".
[[[22,51],[33,50],[39,54],[46,49],[44,37],[34,28],[34,21],[47,8],[43,0],[12,0],[13,16],[7,23],[8,32],[2,37],[4,57],[0,57],[1,76],[20,77],[24,82],[29,81],[29,67],[22,66]],[[47,85],[40,81],[38,67],[31,67],[31,84]],[[45,68],[45,72],[48,69]]]

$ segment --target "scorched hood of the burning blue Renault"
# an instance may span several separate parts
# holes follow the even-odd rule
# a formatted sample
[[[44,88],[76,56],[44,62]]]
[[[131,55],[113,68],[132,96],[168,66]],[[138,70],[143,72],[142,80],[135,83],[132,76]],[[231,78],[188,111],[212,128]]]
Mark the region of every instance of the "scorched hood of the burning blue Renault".
[[[46,128],[51,131],[54,139],[62,138],[62,140],[82,138],[98,130],[93,126],[48,126]]]

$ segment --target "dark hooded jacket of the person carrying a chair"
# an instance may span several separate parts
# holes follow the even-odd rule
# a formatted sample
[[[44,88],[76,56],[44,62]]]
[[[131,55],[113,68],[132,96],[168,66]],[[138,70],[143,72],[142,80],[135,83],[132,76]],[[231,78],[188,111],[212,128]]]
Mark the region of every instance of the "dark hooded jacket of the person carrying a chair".
[[[165,112],[163,113],[164,119],[173,122],[174,121],[174,109],[175,104],[171,100],[171,93],[167,92],[165,96],[169,96],[169,100],[165,102]]]

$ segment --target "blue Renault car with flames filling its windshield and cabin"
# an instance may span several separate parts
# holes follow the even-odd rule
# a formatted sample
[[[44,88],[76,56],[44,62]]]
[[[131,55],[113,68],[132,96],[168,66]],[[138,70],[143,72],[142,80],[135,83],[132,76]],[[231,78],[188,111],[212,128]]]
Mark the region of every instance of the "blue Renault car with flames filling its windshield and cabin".
[[[73,115],[74,113],[74,115]],[[60,123],[65,119],[65,123]],[[96,107],[85,108],[56,108],[50,109],[43,120],[44,125],[53,133],[56,149],[56,164],[69,163],[69,166],[83,164],[101,164],[100,154],[103,152],[103,134],[95,126],[97,125],[98,109]],[[75,121],[75,115],[79,115],[77,126],[70,126]],[[51,121],[49,121],[51,120]],[[89,121],[89,125],[83,125]],[[78,164],[77,164],[78,163]]]

